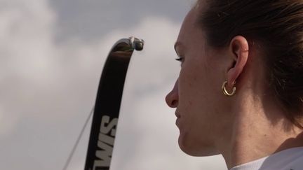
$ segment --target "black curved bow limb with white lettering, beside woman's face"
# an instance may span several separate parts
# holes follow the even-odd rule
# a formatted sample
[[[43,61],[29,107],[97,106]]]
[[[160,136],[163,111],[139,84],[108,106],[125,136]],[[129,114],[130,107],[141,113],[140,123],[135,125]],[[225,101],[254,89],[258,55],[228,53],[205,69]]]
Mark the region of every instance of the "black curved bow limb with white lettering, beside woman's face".
[[[109,170],[128,64],[133,50],[142,50],[143,45],[140,39],[124,38],[109,52],[97,91],[85,170]]]

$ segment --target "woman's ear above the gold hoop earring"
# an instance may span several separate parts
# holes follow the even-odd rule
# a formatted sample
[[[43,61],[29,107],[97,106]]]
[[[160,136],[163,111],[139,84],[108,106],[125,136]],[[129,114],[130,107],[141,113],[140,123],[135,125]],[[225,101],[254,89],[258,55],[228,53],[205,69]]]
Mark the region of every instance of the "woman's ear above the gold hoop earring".
[[[248,41],[243,36],[235,36],[229,44],[229,56],[233,59],[233,64],[227,70],[227,85],[233,87],[237,78],[243,72],[248,61]]]

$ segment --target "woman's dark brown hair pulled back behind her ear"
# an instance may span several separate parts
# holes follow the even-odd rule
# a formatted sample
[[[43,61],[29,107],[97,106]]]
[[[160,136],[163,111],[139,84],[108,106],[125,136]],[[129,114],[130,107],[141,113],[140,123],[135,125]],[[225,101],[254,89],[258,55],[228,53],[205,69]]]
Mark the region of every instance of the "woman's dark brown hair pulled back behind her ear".
[[[267,79],[286,117],[303,117],[303,1],[206,0],[198,23],[208,44],[224,47],[237,35],[262,43]]]

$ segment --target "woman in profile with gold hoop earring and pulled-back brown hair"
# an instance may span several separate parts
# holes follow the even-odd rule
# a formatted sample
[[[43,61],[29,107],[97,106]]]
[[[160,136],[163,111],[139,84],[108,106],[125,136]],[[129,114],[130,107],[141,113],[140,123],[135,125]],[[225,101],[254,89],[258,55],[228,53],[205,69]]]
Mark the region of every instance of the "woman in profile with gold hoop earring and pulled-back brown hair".
[[[189,155],[303,169],[303,1],[201,0],[175,43],[168,106]]]

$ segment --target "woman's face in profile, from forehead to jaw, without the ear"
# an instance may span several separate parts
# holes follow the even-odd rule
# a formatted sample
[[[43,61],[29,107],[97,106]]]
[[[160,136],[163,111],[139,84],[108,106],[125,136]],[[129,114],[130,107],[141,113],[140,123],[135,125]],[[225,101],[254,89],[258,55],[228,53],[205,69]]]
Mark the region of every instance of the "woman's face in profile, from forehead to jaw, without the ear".
[[[182,62],[178,80],[167,95],[168,106],[176,108],[180,129],[179,146],[189,155],[216,155],[217,140],[224,134],[224,52],[206,44],[196,24],[196,8],[184,19],[175,50]]]

